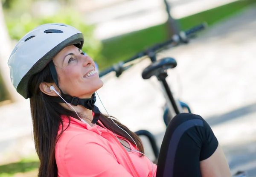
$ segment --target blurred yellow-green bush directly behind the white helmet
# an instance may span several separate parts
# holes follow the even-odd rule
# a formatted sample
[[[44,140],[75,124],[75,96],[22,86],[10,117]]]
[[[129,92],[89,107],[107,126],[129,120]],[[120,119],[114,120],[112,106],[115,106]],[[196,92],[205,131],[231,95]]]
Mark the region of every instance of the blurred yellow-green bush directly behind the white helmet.
[[[100,56],[101,41],[93,38],[93,26],[86,25],[75,9],[62,8],[55,15],[46,17],[32,17],[29,13],[23,13],[19,18],[6,17],[9,35],[16,40],[20,40],[27,32],[44,23],[64,23],[79,29],[84,34],[83,51],[92,58]]]

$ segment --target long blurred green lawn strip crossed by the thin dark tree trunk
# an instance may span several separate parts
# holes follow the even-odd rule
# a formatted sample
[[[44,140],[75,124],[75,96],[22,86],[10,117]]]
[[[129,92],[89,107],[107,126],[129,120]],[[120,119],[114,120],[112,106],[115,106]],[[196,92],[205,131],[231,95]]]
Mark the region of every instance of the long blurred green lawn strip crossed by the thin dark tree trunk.
[[[253,3],[256,3],[256,0],[239,0],[189,17],[177,19],[177,23],[180,29],[183,30],[189,29],[204,21],[211,26]],[[148,46],[165,41],[168,38],[166,29],[166,24],[161,24],[102,41],[104,59],[99,60],[100,70],[110,67],[119,61],[125,61]]]

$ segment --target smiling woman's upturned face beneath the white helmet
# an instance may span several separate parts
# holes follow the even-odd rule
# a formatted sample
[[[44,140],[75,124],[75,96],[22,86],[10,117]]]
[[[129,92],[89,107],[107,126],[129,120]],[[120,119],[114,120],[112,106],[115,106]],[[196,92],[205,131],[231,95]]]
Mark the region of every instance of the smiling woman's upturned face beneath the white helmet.
[[[90,98],[103,86],[95,73],[93,59],[76,46],[67,46],[53,58],[63,93],[79,98]]]

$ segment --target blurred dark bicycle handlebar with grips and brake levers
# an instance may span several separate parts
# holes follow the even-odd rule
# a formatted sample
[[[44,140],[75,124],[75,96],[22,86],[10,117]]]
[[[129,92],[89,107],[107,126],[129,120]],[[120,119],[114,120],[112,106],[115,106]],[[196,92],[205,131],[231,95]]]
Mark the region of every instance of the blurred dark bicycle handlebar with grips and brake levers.
[[[137,58],[141,58],[143,56],[148,55],[149,52],[156,52],[160,49],[163,49],[165,46],[168,46],[169,44],[176,43],[176,45],[180,43],[187,43],[188,39],[192,36],[195,35],[196,32],[199,32],[207,27],[207,23],[201,23],[198,26],[195,26],[187,31],[181,31],[180,34],[178,35],[173,35],[172,39],[165,41],[160,44],[155,44],[154,46],[149,47],[148,49],[145,49],[143,52],[139,52],[133,57],[129,58],[126,61],[119,62],[117,64],[114,64],[112,67],[102,71],[99,73],[99,77],[102,77],[108,73],[111,73],[112,71],[116,72],[116,76],[119,77],[121,75],[122,71],[127,70],[129,67],[123,68],[123,64],[134,61]]]

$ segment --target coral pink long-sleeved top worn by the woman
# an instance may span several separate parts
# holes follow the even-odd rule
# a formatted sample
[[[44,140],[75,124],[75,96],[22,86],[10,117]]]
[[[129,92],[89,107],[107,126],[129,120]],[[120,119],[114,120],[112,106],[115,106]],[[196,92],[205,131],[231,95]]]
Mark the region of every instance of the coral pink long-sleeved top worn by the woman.
[[[62,119],[65,129],[69,121],[67,116]],[[152,177],[147,157],[127,152],[105,127],[91,127],[75,118],[71,118],[56,144],[55,159],[59,177]],[[157,165],[153,168],[155,176]]]

